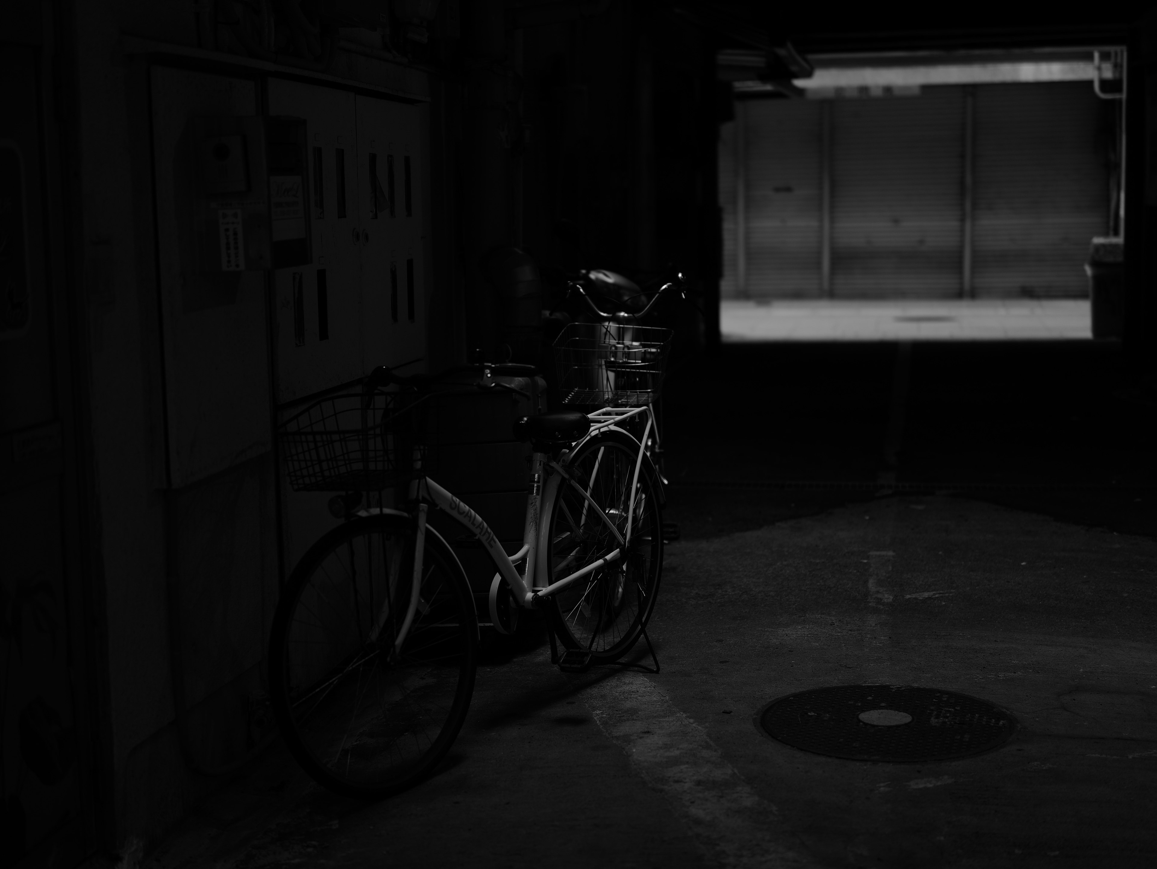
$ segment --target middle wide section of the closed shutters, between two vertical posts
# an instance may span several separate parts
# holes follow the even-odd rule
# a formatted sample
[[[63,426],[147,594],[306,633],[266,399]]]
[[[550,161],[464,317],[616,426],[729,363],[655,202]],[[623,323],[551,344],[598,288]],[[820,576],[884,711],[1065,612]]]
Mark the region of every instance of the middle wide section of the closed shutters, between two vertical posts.
[[[837,100],[832,111],[833,295],[959,296],[961,89]]]

